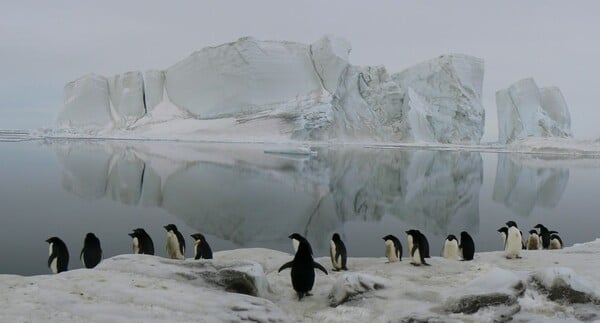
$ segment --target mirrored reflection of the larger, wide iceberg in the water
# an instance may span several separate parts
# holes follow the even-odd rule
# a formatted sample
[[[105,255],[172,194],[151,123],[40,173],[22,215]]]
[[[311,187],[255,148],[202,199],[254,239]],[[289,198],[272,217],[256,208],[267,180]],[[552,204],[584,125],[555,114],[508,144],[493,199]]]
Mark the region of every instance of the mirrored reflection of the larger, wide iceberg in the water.
[[[327,250],[344,223],[384,217],[437,236],[479,230],[483,161],[476,152],[317,147],[292,156],[248,144],[51,145],[65,190],[161,207],[240,246],[287,246],[287,236],[300,232]]]

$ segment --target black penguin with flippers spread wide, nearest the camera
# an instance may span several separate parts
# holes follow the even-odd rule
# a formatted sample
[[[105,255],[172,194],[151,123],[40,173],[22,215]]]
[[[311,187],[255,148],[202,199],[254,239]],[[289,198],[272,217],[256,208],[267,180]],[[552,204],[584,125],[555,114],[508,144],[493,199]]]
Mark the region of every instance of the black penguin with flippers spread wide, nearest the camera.
[[[310,243],[298,233],[290,235],[288,238],[298,241],[298,250],[294,259],[285,263],[279,268],[278,272],[291,268],[292,286],[298,294],[298,300],[304,296],[310,296],[309,293],[315,283],[315,268],[321,270],[327,275],[325,267],[313,260],[312,248]]]

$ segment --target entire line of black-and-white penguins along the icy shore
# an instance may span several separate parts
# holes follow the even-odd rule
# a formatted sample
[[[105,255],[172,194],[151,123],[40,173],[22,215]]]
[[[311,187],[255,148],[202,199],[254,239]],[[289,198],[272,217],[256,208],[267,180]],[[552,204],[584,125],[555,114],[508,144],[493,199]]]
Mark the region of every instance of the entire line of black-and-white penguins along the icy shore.
[[[169,258],[185,259],[185,240],[183,235],[174,224],[164,226],[167,231],[166,252]],[[557,231],[549,230],[542,224],[534,226],[529,230],[529,237],[524,239],[522,231],[517,227],[515,221],[506,222],[506,226],[498,229],[504,246],[504,255],[507,259],[521,258],[521,250],[562,249],[563,243]],[[537,230],[536,230],[537,229]],[[538,231],[539,230],[539,231]],[[425,235],[416,229],[405,232],[407,251],[413,266],[430,266],[425,260],[430,258],[429,242]],[[133,229],[128,235],[132,238],[132,251],[134,254],[154,255],[154,243],[152,238],[142,228]],[[212,259],[212,250],[201,233],[192,234],[194,239],[194,259]],[[308,240],[298,233],[291,234],[288,238],[292,240],[294,258],[283,264],[278,272],[291,269],[290,277],[292,287],[302,300],[305,296],[311,296],[310,292],[315,283],[315,269],[319,269],[325,275],[327,270],[313,259],[312,247]],[[402,261],[402,243],[400,240],[388,234],[382,238],[385,242],[385,257],[387,263]],[[69,251],[66,244],[58,237],[51,237],[49,243],[48,267],[57,274],[68,270]],[[453,234],[446,237],[442,246],[442,257],[450,260],[470,261],[474,259],[475,243],[466,231],[460,233],[460,241]],[[331,237],[329,255],[333,271],[348,270],[347,250],[338,233]],[[80,259],[85,268],[94,268],[102,261],[102,248],[100,240],[92,232],[84,239]]]

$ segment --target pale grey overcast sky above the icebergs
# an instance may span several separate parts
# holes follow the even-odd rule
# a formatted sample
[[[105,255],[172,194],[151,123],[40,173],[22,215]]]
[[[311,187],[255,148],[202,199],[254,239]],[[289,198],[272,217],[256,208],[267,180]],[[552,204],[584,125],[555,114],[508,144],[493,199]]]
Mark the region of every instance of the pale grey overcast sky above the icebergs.
[[[600,1],[12,1],[0,4],[0,128],[52,125],[84,74],[165,69],[236,40],[352,44],[356,65],[398,72],[446,53],[485,61],[484,140],[495,92],[526,77],[558,86],[577,138],[600,137]]]

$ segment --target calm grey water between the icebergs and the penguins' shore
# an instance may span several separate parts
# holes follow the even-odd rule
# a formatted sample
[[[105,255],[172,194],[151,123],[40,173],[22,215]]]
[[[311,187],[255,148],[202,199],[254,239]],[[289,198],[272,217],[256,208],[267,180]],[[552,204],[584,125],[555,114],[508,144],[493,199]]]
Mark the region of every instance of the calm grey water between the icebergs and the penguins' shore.
[[[45,274],[50,236],[80,268],[87,232],[105,257],[131,252],[143,227],[165,255],[168,223],[188,239],[202,232],[213,251],[266,247],[291,252],[307,236],[328,255],[339,232],[349,254],[383,257],[381,237],[418,228],[433,255],[447,234],[466,230],[477,251],[499,250],[496,229],[544,223],[566,245],[600,237],[600,162],[465,151],[278,147],[129,141],[0,142],[0,273]]]

